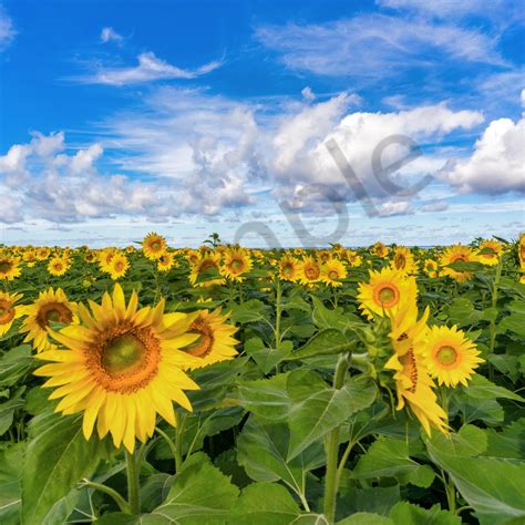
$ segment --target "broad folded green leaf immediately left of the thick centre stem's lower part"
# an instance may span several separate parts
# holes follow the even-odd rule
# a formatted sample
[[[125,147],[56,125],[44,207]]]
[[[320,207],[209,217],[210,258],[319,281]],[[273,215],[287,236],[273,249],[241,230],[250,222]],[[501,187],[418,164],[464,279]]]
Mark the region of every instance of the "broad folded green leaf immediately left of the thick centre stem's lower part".
[[[250,415],[237,440],[237,459],[257,482],[282,480],[296,494],[305,494],[306,473],[325,464],[321,443],[313,443],[294,460],[286,460],[290,431],[285,423]]]

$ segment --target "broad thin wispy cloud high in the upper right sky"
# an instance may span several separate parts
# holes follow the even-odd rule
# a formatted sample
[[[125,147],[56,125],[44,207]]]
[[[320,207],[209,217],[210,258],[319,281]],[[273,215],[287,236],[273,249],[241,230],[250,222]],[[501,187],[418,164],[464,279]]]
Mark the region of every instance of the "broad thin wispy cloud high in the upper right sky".
[[[497,38],[421,17],[373,13],[323,24],[262,25],[256,38],[291,70],[319,75],[384,79],[443,60],[505,63]]]

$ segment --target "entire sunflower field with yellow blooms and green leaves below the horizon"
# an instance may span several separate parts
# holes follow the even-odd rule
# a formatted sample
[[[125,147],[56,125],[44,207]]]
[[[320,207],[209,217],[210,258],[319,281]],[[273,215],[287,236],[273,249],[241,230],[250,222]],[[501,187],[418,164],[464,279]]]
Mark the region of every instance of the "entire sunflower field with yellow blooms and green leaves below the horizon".
[[[525,234],[0,247],[0,524],[525,523]]]

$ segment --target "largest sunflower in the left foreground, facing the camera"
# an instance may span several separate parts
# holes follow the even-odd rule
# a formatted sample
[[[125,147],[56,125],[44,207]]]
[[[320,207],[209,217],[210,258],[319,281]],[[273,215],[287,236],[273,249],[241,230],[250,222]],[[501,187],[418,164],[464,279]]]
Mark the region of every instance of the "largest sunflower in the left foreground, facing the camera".
[[[100,439],[110,432],[131,453],[135,439],[153,435],[157,413],[175,425],[173,401],[191,411],[184,390],[198,389],[182,371],[195,359],[181,351],[197,337],[187,332],[195,316],[164,313],[164,300],[137,305],[134,291],[126,306],[119,285],[102,305],[90,302],[91,312],[81,305],[81,325],[52,332],[65,348],[40,354],[51,363],[34,372],[50,378],[43,384],[55,388],[50,399],[62,398],[56,412],[83,412],[86,440],[96,422]]]

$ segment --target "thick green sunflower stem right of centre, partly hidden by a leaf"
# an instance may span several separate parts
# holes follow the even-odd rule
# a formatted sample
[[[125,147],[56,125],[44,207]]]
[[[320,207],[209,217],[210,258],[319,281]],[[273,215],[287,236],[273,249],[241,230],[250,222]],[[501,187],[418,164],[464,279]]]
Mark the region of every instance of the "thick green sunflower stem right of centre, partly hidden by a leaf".
[[[349,356],[340,356],[333,377],[333,388],[340,390],[344,384],[349,364]],[[341,428],[336,426],[329,434],[327,441],[327,473],[325,476],[325,516],[328,523],[334,523],[336,497],[338,492],[338,459]]]

